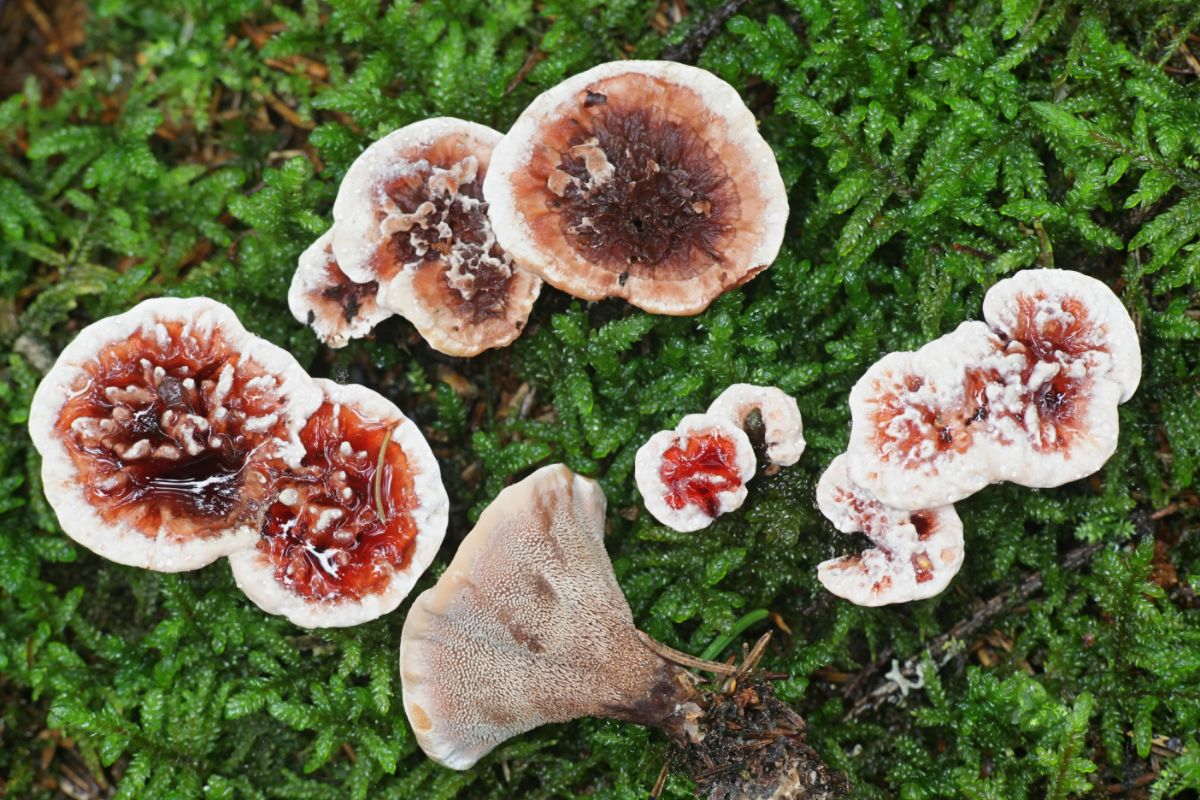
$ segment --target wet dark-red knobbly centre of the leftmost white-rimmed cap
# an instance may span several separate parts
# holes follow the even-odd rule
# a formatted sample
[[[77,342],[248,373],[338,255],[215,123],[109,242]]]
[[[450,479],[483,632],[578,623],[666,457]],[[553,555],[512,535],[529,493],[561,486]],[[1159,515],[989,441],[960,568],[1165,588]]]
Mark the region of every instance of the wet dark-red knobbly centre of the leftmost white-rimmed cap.
[[[256,513],[260,462],[287,438],[287,398],[220,330],[161,323],[83,369],[56,429],[102,519],[203,537]]]

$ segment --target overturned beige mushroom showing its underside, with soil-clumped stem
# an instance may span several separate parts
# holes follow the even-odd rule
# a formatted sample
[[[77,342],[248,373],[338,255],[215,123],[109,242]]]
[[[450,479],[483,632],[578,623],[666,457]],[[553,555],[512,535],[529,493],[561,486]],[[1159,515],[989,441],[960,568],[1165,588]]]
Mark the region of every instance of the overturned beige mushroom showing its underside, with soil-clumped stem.
[[[562,464],[484,511],[404,621],[404,711],[421,750],[469,769],[538,726],[602,716],[664,730],[708,798],[845,796],[844,778],[803,742],[803,721],[769,684],[676,654],[634,627],[604,525],[599,486]],[[708,696],[677,658],[737,672],[736,686]],[[714,757],[730,753],[737,760],[714,777]]]

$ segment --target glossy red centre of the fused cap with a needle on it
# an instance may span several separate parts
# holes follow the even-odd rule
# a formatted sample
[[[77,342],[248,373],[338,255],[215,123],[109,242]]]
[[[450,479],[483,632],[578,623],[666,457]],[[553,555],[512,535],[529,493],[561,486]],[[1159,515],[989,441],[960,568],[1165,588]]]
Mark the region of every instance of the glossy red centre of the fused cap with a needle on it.
[[[307,455],[280,477],[258,542],[281,584],[305,599],[358,600],[407,566],[416,494],[390,431],[328,402],[310,417],[300,433]]]

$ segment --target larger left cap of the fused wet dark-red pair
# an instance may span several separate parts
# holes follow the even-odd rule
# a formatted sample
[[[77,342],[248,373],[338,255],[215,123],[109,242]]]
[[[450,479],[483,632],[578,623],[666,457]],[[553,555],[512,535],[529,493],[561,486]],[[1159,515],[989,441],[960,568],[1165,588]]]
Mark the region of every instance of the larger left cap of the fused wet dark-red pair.
[[[180,572],[253,545],[264,465],[296,462],[319,404],[295,359],[228,307],[157,299],[79,332],[38,385],[29,432],[68,536]]]

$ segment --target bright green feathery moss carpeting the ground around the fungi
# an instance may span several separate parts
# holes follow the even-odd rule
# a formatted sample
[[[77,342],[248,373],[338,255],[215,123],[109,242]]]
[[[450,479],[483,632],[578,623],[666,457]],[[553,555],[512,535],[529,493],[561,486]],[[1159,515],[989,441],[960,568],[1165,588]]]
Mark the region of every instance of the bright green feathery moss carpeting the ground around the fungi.
[[[24,429],[32,389],[83,324],[158,294],[228,302],[422,425],[455,500],[434,575],[515,476],[560,459],[598,477],[638,625],[698,654],[749,612],[778,615],[793,634],[767,666],[858,796],[1069,798],[1145,775],[1154,798],[1200,789],[1192,4],[749,2],[700,64],[760,115],[790,188],[761,277],[686,319],[547,290],[516,345],[469,362],[402,320],[334,354],[290,319],[292,265],[366,143],[433,114],[504,128],[570,73],[678,44],[718,4],[689,2],[665,36],[659,5],[106,0],[82,71],[0,101],[0,793],[53,795],[44,772],[65,756],[40,766],[44,729],[125,798],[642,798],[665,754],[656,734],[589,720],[467,774],[436,768],[398,703],[402,613],[311,634],[253,608],[223,565],[143,573],[70,542]],[[812,487],[845,445],[850,386],[1034,265],[1100,277],[1139,325],[1117,455],[1094,480],[960,504],[968,557],[942,596],[829,602],[815,566],[854,543]],[[804,459],[702,534],[638,515],[636,447],[736,380],[799,398]],[[1102,547],[1062,569],[1080,542]],[[930,662],[904,706],[845,718],[842,690],[1034,572],[1042,589]],[[750,619],[744,637],[773,624]],[[830,682],[880,658],[862,686]],[[691,787],[672,777],[665,796]]]

